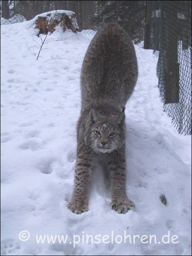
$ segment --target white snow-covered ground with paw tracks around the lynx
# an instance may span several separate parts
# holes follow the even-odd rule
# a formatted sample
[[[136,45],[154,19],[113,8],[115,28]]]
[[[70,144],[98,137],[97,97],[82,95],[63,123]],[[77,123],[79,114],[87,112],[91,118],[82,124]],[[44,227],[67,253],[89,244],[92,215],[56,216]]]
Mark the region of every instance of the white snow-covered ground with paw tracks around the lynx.
[[[111,210],[97,169],[90,211],[75,215],[67,209],[81,109],[79,76],[90,40],[58,27],[36,61],[41,38],[30,22],[1,26],[1,255],[190,255],[191,136],[178,135],[163,112],[152,50],[135,46],[139,79],[125,109],[127,193],[136,208],[125,215]],[[27,238],[23,230],[30,233],[27,241],[20,240]],[[169,231],[178,236],[177,244],[160,242]],[[119,243],[124,232],[131,238],[156,235],[160,243],[137,238]],[[36,235],[64,235],[67,242],[37,243]],[[109,239],[87,244],[87,235]]]

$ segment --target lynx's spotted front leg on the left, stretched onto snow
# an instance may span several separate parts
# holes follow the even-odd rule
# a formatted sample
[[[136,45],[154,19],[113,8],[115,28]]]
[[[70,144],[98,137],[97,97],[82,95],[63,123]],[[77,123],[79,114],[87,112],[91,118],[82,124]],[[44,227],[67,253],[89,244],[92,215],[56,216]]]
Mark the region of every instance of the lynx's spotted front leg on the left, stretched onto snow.
[[[79,154],[76,160],[75,185],[69,209],[76,213],[88,211],[89,178],[92,170],[92,160],[87,154]]]

